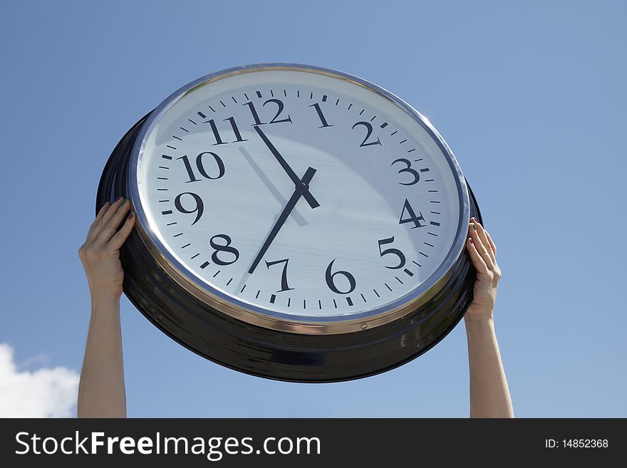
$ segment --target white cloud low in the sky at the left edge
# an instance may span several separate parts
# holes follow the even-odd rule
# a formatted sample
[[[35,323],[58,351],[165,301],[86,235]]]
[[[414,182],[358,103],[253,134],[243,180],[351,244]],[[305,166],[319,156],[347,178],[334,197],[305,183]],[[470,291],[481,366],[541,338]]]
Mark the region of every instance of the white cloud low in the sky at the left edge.
[[[0,343],[0,417],[74,417],[77,393],[73,370],[18,370],[13,348]]]

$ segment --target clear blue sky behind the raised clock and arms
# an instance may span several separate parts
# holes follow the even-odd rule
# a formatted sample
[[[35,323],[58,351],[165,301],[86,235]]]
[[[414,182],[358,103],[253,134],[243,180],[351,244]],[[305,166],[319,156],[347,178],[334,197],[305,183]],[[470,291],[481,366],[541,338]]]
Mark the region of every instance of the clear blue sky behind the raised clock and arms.
[[[516,415],[626,417],[626,20],[620,0],[2,1],[11,375],[80,371],[90,302],[77,251],[125,131],[195,78],[285,61],[387,88],[452,147],[499,248],[495,323]],[[121,308],[133,417],[469,413],[463,323],[396,370],[303,385],[210,363]]]

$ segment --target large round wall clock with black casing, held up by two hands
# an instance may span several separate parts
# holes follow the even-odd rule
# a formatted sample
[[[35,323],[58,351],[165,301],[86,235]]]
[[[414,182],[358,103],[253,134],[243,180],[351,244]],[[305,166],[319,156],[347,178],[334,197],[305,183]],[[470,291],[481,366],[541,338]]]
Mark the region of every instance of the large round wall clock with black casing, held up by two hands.
[[[138,217],[130,301],[244,373],[374,375],[472,301],[480,214],[457,160],[423,115],[346,73],[272,63],[183,86],[115,148],[96,209],[120,194]]]

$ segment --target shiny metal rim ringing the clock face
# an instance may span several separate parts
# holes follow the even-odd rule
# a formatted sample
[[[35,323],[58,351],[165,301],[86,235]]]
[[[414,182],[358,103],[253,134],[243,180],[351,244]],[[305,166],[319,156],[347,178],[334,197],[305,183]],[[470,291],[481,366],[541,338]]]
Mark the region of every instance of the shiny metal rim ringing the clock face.
[[[398,300],[393,303],[373,309],[372,311],[355,314],[351,316],[349,320],[346,320],[343,317],[321,318],[314,316],[293,316],[276,311],[269,311],[265,308],[244,303],[238,298],[222,293],[209,284],[197,279],[195,276],[186,274],[186,267],[174,256],[172,256],[172,254],[170,254],[170,251],[167,250],[167,247],[162,244],[158,236],[155,234],[154,229],[150,226],[143,209],[138,187],[138,168],[140,167],[140,162],[142,161],[142,157],[144,155],[147,135],[150,135],[150,132],[158,123],[162,115],[164,115],[167,110],[169,110],[172,105],[177,102],[177,100],[180,100],[180,98],[188,93],[192,93],[195,88],[239,73],[251,73],[254,71],[267,70],[318,73],[346,80],[353,84],[367,88],[368,90],[378,93],[384,98],[392,101],[395,105],[404,110],[405,113],[408,113],[427,131],[438,147],[440,147],[442,154],[446,157],[450,165],[457,184],[457,193],[459,194],[460,203],[460,219],[458,220],[455,241],[453,242],[450,251],[447,253],[447,256],[445,256],[444,261],[442,261],[442,264],[440,264],[433,274],[423,281],[423,284],[421,284],[418,288],[415,288],[405,296],[398,298]],[[170,274],[172,279],[174,279],[180,287],[192,293],[195,297],[204,303],[207,303],[207,305],[212,308],[216,308],[217,310],[227,313],[241,321],[265,328],[271,328],[277,331],[313,335],[349,333],[363,331],[365,329],[370,329],[394,321],[395,319],[405,316],[407,313],[420,308],[423,303],[429,301],[430,298],[432,298],[432,296],[440,290],[441,285],[445,284],[450,278],[450,269],[452,265],[455,264],[455,261],[459,259],[465,247],[467,223],[470,220],[470,199],[468,189],[460,166],[440,133],[437,132],[430,122],[423,117],[423,115],[418,113],[417,110],[390,93],[388,90],[380,88],[380,86],[356,76],[351,76],[347,73],[331,70],[329,68],[291,63],[265,63],[229,68],[228,70],[212,73],[192,81],[192,83],[188,83],[175,93],[172,93],[172,95],[170,95],[155,110],[153,110],[152,113],[150,113],[149,117],[142,125],[138,137],[135,139],[129,167],[127,187],[130,200],[133,202],[133,207],[135,207],[135,211],[138,216],[136,226],[138,227],[138,232],[143,243],[155,258],[157,264],[159,264],[162,269],[167,271],[167,273]]]

